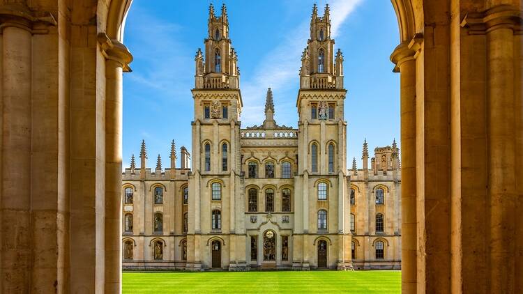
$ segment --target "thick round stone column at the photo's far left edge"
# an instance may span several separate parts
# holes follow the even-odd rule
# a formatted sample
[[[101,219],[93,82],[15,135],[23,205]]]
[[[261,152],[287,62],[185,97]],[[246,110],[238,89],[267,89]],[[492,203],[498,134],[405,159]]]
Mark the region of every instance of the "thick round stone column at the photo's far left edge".
[[[20,20],[22,22],[22,20]],[[29,293],[31,273],[31,31],[2,23],[1,292]],[[52,265],[56,266],[56,265]]]

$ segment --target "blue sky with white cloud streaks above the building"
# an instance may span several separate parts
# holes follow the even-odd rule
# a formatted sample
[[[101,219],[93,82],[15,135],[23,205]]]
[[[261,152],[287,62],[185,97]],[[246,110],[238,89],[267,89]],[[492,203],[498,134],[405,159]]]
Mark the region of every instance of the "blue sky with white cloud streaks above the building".
[[[191,150],[197,48],[204,47],[209,3],[222,1],[135,0],[127,17],[124,43],[134,56],[123,75],[123,166],[139,155],[145,139],[148,167],[162,156],[169,167],[170,141]],[[389,56],[399,43],[389,1],[225,1],[229,37],[238,52],[243,98],[242,127],[263,119],[266,89],[273,89],[275,120],[296,127],[296,95],[301,52],[307,45],[312,4],[331,6],[335,49],[344,54],[347,167],[367,138],[371,150],[400,138],[400,76]],[[371,154],[372,156],[372,154]],[[139,164],[139,160],[137,159]],[[177,163],[179,166],[179,162]]]

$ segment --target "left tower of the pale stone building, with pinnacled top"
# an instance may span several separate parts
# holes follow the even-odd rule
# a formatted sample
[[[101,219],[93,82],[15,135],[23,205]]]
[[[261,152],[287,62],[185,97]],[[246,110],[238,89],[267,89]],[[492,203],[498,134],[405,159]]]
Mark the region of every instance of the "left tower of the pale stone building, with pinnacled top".
[[[196,54],[192,89],[195,118],[189,178],[188,270],[210,266],[205,263],[209,256],[202,256],[209,252],[201,251],[202,235],[209,234],[226,240],[220,241],[221,245],[227,244],[220,248],[222,256],[229,256],[232,267],[241,268],[245,267],[245,250],[236,251],[234,247],[245,247],[238,136],[243,104],[225,5],[220,16],[215,15],[212,4],[209,7],[209,31],[204,44],[205,52],[198,49]]]

